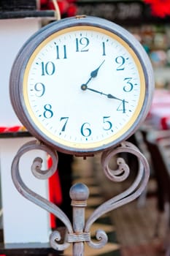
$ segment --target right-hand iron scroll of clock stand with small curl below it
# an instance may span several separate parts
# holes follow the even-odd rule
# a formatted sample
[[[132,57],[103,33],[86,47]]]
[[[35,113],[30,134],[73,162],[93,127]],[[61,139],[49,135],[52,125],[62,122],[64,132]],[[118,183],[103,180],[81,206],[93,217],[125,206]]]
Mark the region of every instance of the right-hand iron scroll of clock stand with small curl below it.
[[[136,148],[136,146],[128,142],[121,143],[120,146],[113,150],[104,151],[104,153],[101,155],[101,165],[107,178],[115,182],[125,181],[125,179],[128,178],[128,175],[130,173],[128,165],[125,163],[125,160],[123,158],[116,157],[117,154],[124,152],[134,154],[134,156],[136,156],[138,159],[139,170],[136,179],[134,183],[131,184],[131,187],[120,193],[120,195],[116,195],[115,197],[112,197],[112,199],[107,200],[107,202],[103,203],[101,206],[98,206],[98,208],[93,211],[93,214],[86,222],[85,232],[88,232],[93,222],[95,222],[96,219],[101,217],[103,214],[106,214],[107,212],[112,211],[120,206],[123,206],[126,203],[130,203],[132,200],[136,199],[136,197],[139,197],[139,195],[141,195],[141,193],[147,186],[147,181],[150,176],[150,168],[147,159],[139,151],[139,149]],[[112,159],[112,157],[115,157],[115,159],[117,160],[117,170],[110,170],[109,168],[109,161]],[[99,236],[99,233],[96,233],[96,238],[97,236]],[[104,235],[102,233],[101,238],[104,237],[104,241],[106,241],[106,236],[106,234]],[[101,248],[105,243],[102,243],[102,240],[103,239],[101,239],[101,244],[95,244],[92,241],[89,241],[88,244],[93,248]]]

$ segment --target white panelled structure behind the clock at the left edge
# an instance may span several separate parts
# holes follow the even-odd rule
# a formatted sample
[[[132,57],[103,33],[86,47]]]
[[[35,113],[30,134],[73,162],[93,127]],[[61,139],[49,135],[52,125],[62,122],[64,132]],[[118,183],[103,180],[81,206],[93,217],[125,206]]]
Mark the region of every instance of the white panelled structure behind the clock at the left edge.
[[[20,125],[9,99],[9,74],[18,50],[40,26],[40,18],[0,19],[0,127]],[[11,178],[12,159],[20,146],[33,139],[1,138],[0,136],[0,194],[3,209],[4,244],[46,243],[49,241],[49,214],[22,197],[15,189]],[[46,158],[45,152],[41,152],[41,155],[31,152],[23,158],[20,166],[23,166],[23,180],[28,187],[47,198],[47,181],[38,180],[31,174],[31,162],[34,157],[38,156],[42,156],[42,159]]]

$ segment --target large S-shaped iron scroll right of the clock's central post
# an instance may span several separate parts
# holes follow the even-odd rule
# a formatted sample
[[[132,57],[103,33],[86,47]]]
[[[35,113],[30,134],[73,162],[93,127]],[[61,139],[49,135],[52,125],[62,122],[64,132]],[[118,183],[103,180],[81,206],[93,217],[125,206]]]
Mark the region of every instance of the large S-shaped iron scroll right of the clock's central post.
[[[112,211],[120,206],[123,206],[124,204],[129,203],[132,200],[136,199],[136,197],[139,197],[139,195],[144,191],[144,188],[147,186],[147,182],[150,176],[150,167],[148,165],[147,159],[139,151],[139,149],[136,148],[136,146],[129,142],[123,142],[117,148],[113,148],[112,150],[104,152],[104,154],[101,157],[102,165],[105,168],[104,172],[107,173],[107,176],[109,176],[109,178],[111,178],[111,180],[114,181],[117,181],[115,173],[117,175],[117,173],[120,174],[122,171],[124,171],[127,176],[128,171],[125,169],[118,169],[115,171],[113,175],[112,172],[109,170],[109,167],[107,167],[109,159],[112,156],[123,152],[134,154],[134,156],[136,156],[139,161],[139,170],[136,179],[133,182],[133,184],[131,184],[131,187],[129,187],[119,195],[112,197],[110,200],[107,200],[107,202],[102,203],[101,206],[98,206],[98,208],[96,208],[96,210],[93,211],[93,214],[91,214],[91,216],[85,224],[85,232],[88,232],[93,222],[95,222],[96,219],[101,217],[103,214],[107,214],[107,212]],[[122,163],[123,160],[118,159],[117,161],[120,161]],[[124,167],[125,163],[123,161],[123,168]]]

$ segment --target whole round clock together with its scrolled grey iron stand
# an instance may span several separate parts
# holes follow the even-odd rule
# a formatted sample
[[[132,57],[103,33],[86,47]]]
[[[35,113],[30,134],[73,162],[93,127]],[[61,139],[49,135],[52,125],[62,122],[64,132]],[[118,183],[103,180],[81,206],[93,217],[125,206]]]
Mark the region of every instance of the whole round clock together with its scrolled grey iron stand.
[[[67,72],[67,75],[66,75]],[[101,249],[107,244],[104,230],[91,240],[90,228],[103,214],[139,197],[150,176],[144,155],[126,141],[142,124],[150,109],[154,89],[147,53],[128,31],[96,17],[77,16],[50,23],[21,48],[12,67],[10,97],[23,125],[37,140],[24,144],[12,162],[12,181],[21,195],[61,219],[66,236],[50,235],[53,249],[73,244],[73,256],[83,256],[85,243]],[[88,104],[87,104],[88,103]],[[88,187],[70,189],[72,222],[58,206],[24,184],[19,163],[27,151],[47,152],[53,165],[42,170],[42,159],[33,160],[36,178],[50,178],[58,167],[58,153],[91,157],[101,153],[101,167],[111,181],[125,181],[131,167],[122,155],[138,159],[131,187],[102,203],[85,221]],[[109,163],[116,160],[117,168]]]

